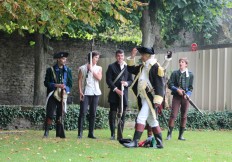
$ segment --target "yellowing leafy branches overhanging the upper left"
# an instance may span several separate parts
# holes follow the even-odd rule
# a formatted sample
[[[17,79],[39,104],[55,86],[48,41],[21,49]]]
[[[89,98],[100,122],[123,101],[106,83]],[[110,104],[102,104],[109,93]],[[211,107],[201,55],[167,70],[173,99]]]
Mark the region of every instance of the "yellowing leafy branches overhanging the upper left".
[[[26,30],[47,36],[83,36],[111,22],[126,23],[138,6],[136,0],[4,0],[0,2],[0,30]],[[115,24],[115,23],[113,23]],[[98,27],[98,28],[96,28]]]

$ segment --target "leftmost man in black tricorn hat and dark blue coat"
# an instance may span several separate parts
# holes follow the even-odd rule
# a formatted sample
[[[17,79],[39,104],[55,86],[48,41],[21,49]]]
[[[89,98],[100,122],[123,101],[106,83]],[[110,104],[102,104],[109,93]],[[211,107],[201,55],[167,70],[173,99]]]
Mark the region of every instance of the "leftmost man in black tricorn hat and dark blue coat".
[[[56,64],[47,68],[44,85],[47,87],[46,119],[44,137],[48,137],[52,120],[56,116],[56,137],[65,138],[63,115],[67,108],[67,95],[72,87],[72,73],[65,65],[67,52],[55,53]]]

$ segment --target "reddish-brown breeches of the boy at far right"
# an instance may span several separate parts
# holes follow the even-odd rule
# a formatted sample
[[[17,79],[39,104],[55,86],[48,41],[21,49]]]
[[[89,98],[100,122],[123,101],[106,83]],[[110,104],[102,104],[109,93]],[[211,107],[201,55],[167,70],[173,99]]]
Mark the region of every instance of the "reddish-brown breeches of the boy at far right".
[[[175,120],[178,116],[178,112],[181,112],[180,127],[185,127],[187,123],[187,113],[189,108],[189,101],[182,96],[173,96],[172,99],[172,111],[169,119],[169,126],[174,127]]]

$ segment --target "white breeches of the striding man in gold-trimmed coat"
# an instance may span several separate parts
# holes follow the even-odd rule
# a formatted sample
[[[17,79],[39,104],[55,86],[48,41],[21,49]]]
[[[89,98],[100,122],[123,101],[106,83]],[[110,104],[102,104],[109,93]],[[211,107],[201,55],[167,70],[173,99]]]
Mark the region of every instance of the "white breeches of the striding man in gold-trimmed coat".
[[[147,100],[142,98],[142,108],[139,111],[136,123],[146,125],[146,121],[151,127],[159,126],[158,120],[152,116]]]

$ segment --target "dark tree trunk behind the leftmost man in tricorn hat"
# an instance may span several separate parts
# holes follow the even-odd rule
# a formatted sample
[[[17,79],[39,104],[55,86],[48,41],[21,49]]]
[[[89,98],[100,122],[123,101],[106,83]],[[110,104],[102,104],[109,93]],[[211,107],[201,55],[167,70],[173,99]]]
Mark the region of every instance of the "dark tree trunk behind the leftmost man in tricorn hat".
[[[35,76],[34,76],[34,98],[33,105],[44,105],[46,89],[43,81],[45,76],[45,37],[42,34],[35,34]]]

